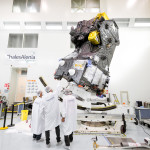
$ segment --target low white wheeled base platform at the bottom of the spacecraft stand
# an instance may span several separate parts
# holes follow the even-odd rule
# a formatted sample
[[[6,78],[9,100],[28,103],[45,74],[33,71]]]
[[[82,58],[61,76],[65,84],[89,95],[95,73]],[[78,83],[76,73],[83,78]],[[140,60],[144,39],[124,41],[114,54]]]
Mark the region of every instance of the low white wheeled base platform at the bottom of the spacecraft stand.
[[[124,134],[126,121],[135,122],[135,115],[112,115],[107,113],[78,113],[78,133]]]

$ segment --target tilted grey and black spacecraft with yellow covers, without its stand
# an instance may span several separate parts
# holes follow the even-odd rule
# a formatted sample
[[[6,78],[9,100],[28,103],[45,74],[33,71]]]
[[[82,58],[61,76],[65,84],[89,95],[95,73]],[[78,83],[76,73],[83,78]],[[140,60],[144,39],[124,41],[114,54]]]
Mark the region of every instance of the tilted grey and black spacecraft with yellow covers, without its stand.
[[[91,20],[78,22],[76,28],[71,28],[70,35],[75,50],[60,60],[55,79],[64,78],[74,83],[72,88],[78,86],[87,95],[95,95],[95,98],[105,97],[104,91],[109,84],[109,66],[115,48],[119,45],[116,22],[109,20],[105,13],[100,13]]]

